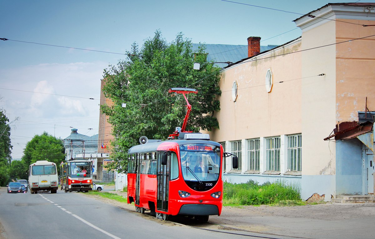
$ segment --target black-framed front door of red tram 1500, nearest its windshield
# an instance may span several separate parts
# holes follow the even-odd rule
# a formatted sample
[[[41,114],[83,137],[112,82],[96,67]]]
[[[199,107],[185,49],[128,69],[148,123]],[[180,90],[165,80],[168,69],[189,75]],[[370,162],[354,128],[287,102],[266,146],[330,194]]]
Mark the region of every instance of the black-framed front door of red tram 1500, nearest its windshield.
[[[166,165],[161,164],[163,152],[157,152],[157,200],[156,209],[168,212],[168,196],[169,196],[169,162],[171,156],[168,156]]]

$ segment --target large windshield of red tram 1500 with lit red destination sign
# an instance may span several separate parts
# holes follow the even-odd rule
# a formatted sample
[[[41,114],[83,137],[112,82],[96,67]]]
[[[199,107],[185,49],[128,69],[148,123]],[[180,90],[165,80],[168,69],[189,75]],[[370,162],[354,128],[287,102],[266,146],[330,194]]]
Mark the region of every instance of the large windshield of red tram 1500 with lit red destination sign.
[[[180,146],[181,171],[186,181],[217,181],[220,173],[220,146],[188,144]]]

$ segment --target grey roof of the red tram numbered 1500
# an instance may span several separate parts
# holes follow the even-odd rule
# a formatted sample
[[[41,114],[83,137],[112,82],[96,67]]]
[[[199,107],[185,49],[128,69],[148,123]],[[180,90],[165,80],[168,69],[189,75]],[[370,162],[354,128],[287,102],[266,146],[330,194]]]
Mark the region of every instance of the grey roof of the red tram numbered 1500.
[[[141,152],[153,152],[156,151],[159,145],[162,143],[176,143],[178,145],[183,145],[183,144],[192,144],[192,143],[208,143],[211,145],[217,145],[219,146],[220,143],[211,141],[211,140],[201,140],[201,139],[173,139],[173,140],[165,140],[165,141],[158,141],[158,142],[153,142],[153,143],[144,143],[140,145],[135,145],[131,147],[127,153],[128,154],[134,154],[134,153],[141,153]]]

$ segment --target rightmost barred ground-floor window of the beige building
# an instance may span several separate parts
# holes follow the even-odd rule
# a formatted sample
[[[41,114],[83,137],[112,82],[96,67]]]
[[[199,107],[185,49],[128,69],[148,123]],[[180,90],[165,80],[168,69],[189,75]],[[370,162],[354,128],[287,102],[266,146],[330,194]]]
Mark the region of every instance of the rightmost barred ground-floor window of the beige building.
[[[302,134],[288,136],[288,171],[302,171]]]

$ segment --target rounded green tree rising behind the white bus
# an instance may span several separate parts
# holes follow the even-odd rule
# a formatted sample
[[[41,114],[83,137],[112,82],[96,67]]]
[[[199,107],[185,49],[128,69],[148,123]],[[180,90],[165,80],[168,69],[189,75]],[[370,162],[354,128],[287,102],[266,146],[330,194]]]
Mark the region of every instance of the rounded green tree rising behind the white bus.
[[[33,139],[27,142],[22,157],[27,170],[31,163],[35,163],[38,160],[47,160],[60,165],[64,159],[65,148],[63,142],[47,132],[35,135]]]

